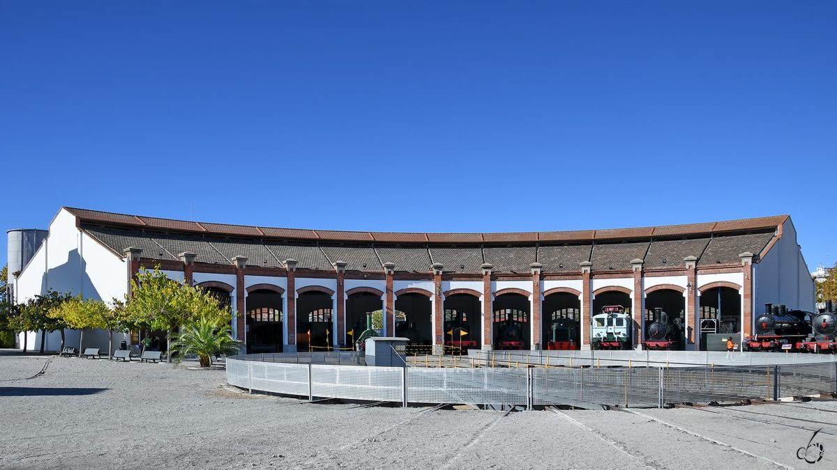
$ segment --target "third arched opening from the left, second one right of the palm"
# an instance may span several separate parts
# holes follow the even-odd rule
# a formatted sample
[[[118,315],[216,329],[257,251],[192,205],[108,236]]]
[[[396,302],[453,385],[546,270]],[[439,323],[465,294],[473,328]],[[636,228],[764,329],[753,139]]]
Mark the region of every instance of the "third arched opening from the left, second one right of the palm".
[[[310,290],[296,299],[296,350],[331,349],[331,295]]]

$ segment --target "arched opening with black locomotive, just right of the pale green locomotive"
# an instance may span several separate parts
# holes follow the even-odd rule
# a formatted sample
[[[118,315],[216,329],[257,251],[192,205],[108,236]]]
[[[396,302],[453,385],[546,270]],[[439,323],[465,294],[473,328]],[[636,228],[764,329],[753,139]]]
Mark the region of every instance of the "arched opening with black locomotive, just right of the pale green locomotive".
[[[656,337],[651,337],[650,329],[656,322],[654,318],[655,309],[662,309],[660,324],[667,326],[663,328],[660,328],[660,325],[655,326],[654,336]],[[686,349],[686,298],[683,297],[683,293],[674,289],[658,289],[645,294],[644,314],[645,331],[643,332],[643,340],[660,343],[662,337],[665,336],[665,340],[671,342],[671,345],[666,349]]]

